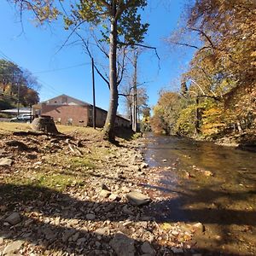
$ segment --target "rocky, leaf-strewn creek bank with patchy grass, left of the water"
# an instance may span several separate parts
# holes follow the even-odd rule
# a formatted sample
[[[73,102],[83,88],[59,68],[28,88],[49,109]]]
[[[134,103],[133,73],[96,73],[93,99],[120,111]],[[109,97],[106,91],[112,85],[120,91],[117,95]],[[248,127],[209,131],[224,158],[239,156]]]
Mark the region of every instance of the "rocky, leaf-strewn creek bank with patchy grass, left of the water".
[[[155,218],[166,198],[139,141],[113,145],[92,130],[0,136],[0,254],[201,255],[203,224]]]

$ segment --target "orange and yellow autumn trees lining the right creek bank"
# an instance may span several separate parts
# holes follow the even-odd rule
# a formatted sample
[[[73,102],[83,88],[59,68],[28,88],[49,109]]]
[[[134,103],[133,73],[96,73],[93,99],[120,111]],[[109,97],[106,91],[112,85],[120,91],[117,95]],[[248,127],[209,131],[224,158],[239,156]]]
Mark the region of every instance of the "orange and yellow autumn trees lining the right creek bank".
[[[168,43],[195,54],[181,89],[160,93],[154,131],[255,144],[255,15],[253,1],[200,0],[188,8]]]

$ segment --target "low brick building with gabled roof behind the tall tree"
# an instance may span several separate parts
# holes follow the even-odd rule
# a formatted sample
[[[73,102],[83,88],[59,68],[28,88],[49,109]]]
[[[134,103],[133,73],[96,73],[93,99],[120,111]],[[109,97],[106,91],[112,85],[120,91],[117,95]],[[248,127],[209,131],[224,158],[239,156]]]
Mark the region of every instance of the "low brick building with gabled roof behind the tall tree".
[[[32,113],[38,115],[49,115],[55,123],[61,125],[81,125],[92,126],[93,106],[87,102],[82,102],[71,96],[61,95],[40,102],[32,106]],[[96,126],[103,127],[107,118],[107,111],[96,107]],[[116,125],[130,127],[130,120],[121,116],[116,117]]]

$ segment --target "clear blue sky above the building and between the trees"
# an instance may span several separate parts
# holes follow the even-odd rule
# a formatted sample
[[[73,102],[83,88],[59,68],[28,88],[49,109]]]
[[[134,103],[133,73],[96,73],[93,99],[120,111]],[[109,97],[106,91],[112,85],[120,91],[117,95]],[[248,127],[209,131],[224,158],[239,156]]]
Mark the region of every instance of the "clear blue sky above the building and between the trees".
[[[177,90],[179,75],[183,73],[183,68],[189,62],[191,53],[186,56],[178,54],[172,51],[164,40],[177,27],[184,2],[184,0],[151,0],[142,13],[143,20],[150,24],[144,44],[157,47],[160,55],[158,61],[154,51],[147,50],[138,61],[138,82],[147,82],[149,106],[157,102],[160,89]],[[88,55],[84,54],[79,45],[67,46],[56,53],[69,34],[64,31],[61,22],[55,22],[52,26],[35,26],[32,15],[26,13],[22,19],[24,27],[22,32],[19,20],[20,17],[14,6],[2,0],[0,58],[14,61],[37,76],[42,84],[41,100],[64,93],[91,103]],[[108,95],[107,85],[96,74],[96,105],[108,109]],[[119,113],[124,111],[120,99]]]

